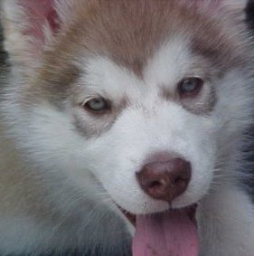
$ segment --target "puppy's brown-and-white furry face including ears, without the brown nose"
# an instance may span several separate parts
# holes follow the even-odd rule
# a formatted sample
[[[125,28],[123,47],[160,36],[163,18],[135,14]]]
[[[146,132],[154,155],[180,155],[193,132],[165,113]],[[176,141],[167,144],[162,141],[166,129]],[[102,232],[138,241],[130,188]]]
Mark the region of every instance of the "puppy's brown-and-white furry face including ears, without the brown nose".
[[[130,213],[201,200],[249,115],[246,3],[30,2],[3,1],[6,111],[29,161]],[[188,182],[157,200],[137,174],[169,159],[188,163]]]

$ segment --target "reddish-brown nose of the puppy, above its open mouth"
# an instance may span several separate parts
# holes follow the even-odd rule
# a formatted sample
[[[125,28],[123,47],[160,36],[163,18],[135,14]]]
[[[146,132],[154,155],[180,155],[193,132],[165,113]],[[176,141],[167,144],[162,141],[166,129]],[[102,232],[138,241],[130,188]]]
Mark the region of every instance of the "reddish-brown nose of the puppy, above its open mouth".
[[[174,198],[183,194],[192,175],[189,162],[180,157],[167,156],[155,160],[136,173],[137,181],[146,194],[164,200],[169,204]]]

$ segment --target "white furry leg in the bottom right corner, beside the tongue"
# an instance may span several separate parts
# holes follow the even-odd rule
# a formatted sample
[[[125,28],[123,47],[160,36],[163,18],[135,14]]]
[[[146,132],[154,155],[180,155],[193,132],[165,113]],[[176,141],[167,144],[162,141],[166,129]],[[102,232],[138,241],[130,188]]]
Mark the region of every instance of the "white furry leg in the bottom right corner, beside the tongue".
[[[199,216],[201,256],[253,255],[253,213],[247,194],[229,184],[204,199]]]

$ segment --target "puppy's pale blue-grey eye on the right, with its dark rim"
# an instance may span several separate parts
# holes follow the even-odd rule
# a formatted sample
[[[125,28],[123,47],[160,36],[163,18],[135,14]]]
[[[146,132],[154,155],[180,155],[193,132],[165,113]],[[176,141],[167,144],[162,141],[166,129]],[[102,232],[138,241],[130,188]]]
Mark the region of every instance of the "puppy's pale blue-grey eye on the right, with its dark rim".
[[[178,83],[178,92],[181,97],[196,96],[202,89],[203,81],[199,77],[183,79]]]

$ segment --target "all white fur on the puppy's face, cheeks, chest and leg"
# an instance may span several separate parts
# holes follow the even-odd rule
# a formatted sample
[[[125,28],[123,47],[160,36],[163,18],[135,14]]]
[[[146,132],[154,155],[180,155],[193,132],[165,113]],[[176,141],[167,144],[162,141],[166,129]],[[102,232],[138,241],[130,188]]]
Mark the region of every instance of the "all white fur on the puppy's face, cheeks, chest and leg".
[[[16,1],[8,1],[5,12],[14,18]],[[68,23],[71,2],[64,3],[61,9],[57,1],[57,9]],[[236,1],[223,2],[229,3],[242,8]],[[27,42],[13,44],[19,36],[11,26],[6,49],[26,62],[19,54]],[[131,213],[168,209],[136,181],[147,157],[166,151],[192,164],[190,185],[172,206],[199,203],[201,256],[253,255],[254,209],[238,180],[243,131],[252,122],[252,81],[248,70],[206,81],[204,87],[215,86],[218,95],[207,115],[163,99],[161,85],[174,91],[184,77],[204,74],[203,66],[194,65],[189,44],[189,35],[181,33],[162,44],[143,79],[106,57],[77,56],[83,72],[75,81],[79,93],[73,95],[74,107],[64,102],[61,110],[43,99],[25,109],[20,97],[26,81],[13,69],[1,104],[0,253],[118,247],[131,228],[116,203]],[[129,104],[98,137],[82,136],[74,117],[84,124],[94,120],[77,106],[100,95],[116,105],[127,98]],[[104,119],[97,122],[98,129],[104,126]]]

